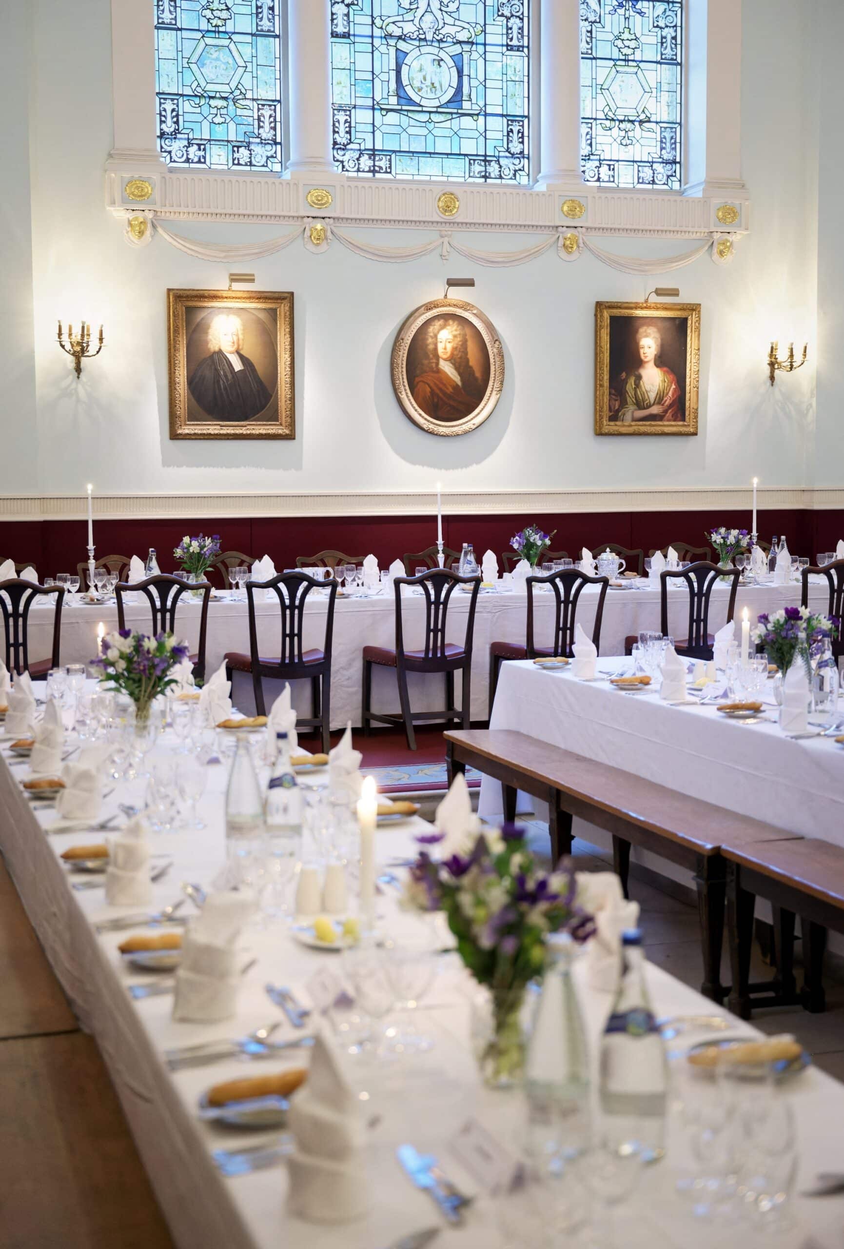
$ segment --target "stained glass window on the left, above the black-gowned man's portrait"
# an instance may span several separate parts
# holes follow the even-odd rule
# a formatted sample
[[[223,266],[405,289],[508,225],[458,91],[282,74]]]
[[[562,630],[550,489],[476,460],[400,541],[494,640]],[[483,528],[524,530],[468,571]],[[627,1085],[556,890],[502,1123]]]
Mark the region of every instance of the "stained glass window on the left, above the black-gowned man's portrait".
[[[187,169],[281,170],[281,0],[154,0],[159,149]]]

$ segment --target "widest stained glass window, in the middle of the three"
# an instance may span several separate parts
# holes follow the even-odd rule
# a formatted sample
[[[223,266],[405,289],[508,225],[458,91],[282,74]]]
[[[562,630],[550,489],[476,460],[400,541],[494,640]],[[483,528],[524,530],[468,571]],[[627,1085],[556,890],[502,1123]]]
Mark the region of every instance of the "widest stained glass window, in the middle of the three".
[[[529,4],[331,0],[340,167],[528,182]]]

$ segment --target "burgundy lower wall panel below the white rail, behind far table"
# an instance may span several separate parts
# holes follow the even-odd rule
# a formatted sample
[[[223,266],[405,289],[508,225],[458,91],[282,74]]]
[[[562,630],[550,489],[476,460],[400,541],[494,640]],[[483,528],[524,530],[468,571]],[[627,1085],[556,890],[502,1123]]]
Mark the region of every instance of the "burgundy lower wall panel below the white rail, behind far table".
[[[523,516],[444,516],[443,542],[459,551],[472,542],[478,557],[489,548],[501,557],[509,540],[524,525],[534,522],[547,533],[554,530],[553,551],[568,551],[577,558],[581,547],[599,542],[642,547],[645,552],[667,542],[704,545],[704,531],[713,523],[748,526],[750,513],[713,512],[582,512],[526,513]],[[834,551],[844,537],[844,512],[804,510],[760,511],[759,537],[767,542],[784,533],[793,555]],[[175,567],[172,550],[185,533],[218,533],[226,551],[245,555],[270,555],[277,568],[288,568],[300,555],[316,555],[333,548],[358,556],[372,552],[382,568],[411,551],[422,551],[437,537],[436,517],[355,516],[355,517],[256,517],[253,520],[115,520],[96,521],[94,540],[97,556],[137,555],[146,557],[154,546],[162,572]],[[86,558],[84,521],[9,521],[0,523],[0,556],[35,565],[39,576],[75,572]]]

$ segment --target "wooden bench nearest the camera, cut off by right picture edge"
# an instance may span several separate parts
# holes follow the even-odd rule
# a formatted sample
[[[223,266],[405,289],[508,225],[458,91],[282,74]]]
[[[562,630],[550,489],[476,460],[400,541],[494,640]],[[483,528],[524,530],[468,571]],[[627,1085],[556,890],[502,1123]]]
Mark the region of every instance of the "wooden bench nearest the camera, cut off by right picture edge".
[[[844,848],[805,838],[802,842],[745,842],[722,847],[727,861],[727,922],[733,989],[729,1007],[743,1019],[750,1007],[787,1005],[800,1000],[807,1010],[823,1010],[823,959],[827,929],[844,933]],[[778,940],[778,974],[767,983],[750,984],[750,944],[757,898],[767,898],[774,911]],[[803,988],[797,993],[792,960],[794,917],[803,934]],[[759,1002],[752,1002],[762,994]]]

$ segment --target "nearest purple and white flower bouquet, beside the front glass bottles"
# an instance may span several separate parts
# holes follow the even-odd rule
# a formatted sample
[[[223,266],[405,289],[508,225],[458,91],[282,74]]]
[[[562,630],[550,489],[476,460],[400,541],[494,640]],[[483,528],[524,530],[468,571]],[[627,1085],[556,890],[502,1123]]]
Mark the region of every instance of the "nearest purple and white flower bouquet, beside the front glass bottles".
[[[417,841],[426,847],[442,838],[431,833]],[[574,873],[546,872],[514,824],[484,829],[468,856],[437,862],[423,848],[410,869],[405,906],[443,911],[459,957],[489,990],[492,1028],[478,1057],[491,1087],[508,1087],[522,1075],[519,1015],[527,985],[542,974],[546,936],[566,928],[584,942],[594,933],[576,891]]]

